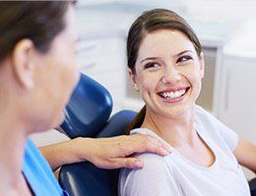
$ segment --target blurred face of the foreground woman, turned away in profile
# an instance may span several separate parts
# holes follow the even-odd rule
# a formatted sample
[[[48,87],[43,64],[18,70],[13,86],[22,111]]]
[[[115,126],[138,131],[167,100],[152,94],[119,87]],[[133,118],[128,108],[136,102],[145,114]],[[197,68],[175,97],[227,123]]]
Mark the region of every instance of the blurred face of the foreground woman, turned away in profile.
[[[69,6],[66,26],[53,40],[46,54],[36,53],[33,98],[44,128],[57,126],[63,121],[63,110],[76,86],[80,73],[76,64],[77,34],[74,8]],[[39,114],[37,114],[39,115]]]

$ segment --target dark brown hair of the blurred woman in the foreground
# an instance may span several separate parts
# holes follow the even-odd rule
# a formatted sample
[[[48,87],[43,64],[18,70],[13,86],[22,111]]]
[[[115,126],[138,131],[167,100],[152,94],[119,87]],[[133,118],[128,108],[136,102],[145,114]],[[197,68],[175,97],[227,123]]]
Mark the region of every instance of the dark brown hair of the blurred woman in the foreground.
[[[64,27],[64,15],[72,1],[0,2],[0,62],[23,38],[46,53]]]

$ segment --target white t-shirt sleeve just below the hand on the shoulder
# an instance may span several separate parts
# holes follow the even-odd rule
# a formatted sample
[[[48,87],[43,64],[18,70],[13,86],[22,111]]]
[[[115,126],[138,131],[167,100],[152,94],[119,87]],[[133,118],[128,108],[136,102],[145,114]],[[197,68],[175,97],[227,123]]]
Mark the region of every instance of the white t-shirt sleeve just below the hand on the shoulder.
[[[181,196],[180,187],[158,155],[140,157],[144,161],[141,170],[124,169],[119,176],[120,196]]]

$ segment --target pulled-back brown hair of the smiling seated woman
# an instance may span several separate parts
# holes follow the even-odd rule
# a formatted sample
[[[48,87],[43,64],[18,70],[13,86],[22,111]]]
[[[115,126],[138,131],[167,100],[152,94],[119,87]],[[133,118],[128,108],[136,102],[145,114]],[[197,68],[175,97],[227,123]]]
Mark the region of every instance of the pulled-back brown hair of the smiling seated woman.
[[[200,56],[202,47],[199,39],[187,22],[176,13],[165,9],[154,9],[144,12],[130,27],[127,38],[127,66],[131,69],[133,74],[136,74],[135,64],[138,57],[138,52],[143,39],[148,33],[160,30],[170,29],[178,30],[184,33],[188,39],[193,43],[197,55]],[[127,133],[130,130],[138,128],[144,122],[146,115],[146,106],[139,112],[135,119],[129,124]]]

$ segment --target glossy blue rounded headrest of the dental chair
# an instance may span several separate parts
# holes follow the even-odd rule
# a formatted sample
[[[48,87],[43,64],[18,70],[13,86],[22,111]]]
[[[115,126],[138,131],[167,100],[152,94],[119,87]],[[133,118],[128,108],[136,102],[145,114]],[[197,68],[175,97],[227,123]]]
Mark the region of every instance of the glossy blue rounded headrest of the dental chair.
[[[112,111],[110,93],[85,73],[75,88],[65,109],[65,120],[60,125],[70,138],[94,136],[107,122]]]

